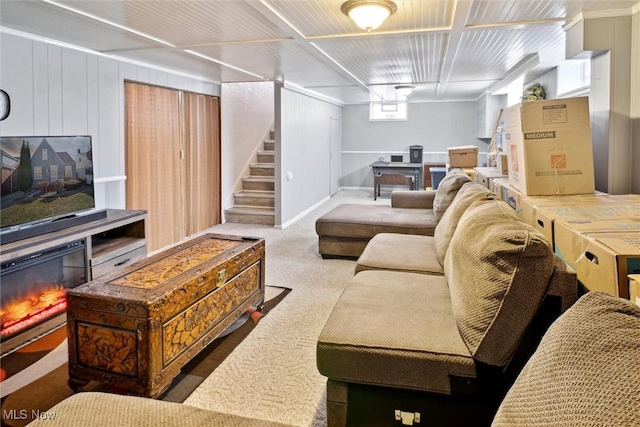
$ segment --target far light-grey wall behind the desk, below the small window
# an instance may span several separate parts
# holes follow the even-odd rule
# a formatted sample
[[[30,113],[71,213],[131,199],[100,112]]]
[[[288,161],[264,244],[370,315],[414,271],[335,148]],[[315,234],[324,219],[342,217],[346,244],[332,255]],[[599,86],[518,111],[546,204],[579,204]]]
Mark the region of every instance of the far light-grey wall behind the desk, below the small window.
[[[447,147],[489,146],[477,139],[476,102],[410,103],[406,121],[369,121],[369,105],[344,107],[342,187],[373,187],[371,163],[391,154],[409,158],[409,146],[422,145],[425,162],[446,163]],[[486,155],[480,155],[480,161]]]

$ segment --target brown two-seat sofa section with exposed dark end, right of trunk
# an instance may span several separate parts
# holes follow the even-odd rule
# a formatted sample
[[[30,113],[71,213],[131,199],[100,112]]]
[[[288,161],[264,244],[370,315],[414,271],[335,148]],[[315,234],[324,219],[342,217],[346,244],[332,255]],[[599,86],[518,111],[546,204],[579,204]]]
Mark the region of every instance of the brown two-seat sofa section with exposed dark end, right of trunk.
[[[489,425],[575,302],[575,273],[544,236],[483,186],[462,184],[433,236],[377,233],[365,245],[317,343],[329,426],[416,414],[422,425]]]

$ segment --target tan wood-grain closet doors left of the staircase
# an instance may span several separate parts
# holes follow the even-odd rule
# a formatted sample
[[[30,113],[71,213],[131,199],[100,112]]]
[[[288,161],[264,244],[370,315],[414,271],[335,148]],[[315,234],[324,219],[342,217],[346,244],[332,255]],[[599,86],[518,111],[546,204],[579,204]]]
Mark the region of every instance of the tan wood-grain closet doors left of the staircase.
[[[125,82],[126,204],[149,252],[220,222],[218,99]]]

